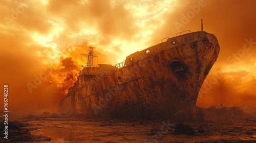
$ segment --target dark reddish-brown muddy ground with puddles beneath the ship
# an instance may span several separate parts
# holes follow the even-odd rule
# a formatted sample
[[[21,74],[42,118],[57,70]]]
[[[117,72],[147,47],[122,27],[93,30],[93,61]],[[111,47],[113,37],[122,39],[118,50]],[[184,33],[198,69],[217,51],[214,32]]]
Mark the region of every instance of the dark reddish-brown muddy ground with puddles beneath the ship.
[[[256,112],[215,107],[205,111],[205,120],[200,122],[67,117],[48,112],[12,115],[8,139],[1,133],[0,142],[256,142]]]

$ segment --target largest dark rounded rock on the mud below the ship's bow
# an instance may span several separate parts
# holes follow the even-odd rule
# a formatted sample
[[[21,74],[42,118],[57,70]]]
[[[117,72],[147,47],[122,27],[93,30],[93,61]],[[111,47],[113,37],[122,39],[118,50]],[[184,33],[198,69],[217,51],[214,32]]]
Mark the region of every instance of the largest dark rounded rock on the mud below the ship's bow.
[[[189,134],[192,135],[195,133],[194,129],[190,125],[184,125],[182,123],[177,123],[174,126],[175,134]]]

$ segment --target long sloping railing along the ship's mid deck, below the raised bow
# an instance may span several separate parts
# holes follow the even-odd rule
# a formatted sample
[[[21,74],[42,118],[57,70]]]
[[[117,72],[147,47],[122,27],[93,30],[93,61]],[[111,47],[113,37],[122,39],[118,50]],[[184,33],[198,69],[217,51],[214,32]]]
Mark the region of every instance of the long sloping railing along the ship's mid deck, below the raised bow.
[[[89,85],[89,84],[93,83],[94,81],[100,79],[101,77],[108,75],[108,74],[112,73],[113,71],[115,71],[121,67],[124,67],[124,66],[125,66],[125,61],[115,64],[112,66],[112,68],[106,69],[103,72],[101,72],[100,74],[98,74],[98,75],[94,76],[93,78],[89,79],[88,81],[86,81],[85,85]]]

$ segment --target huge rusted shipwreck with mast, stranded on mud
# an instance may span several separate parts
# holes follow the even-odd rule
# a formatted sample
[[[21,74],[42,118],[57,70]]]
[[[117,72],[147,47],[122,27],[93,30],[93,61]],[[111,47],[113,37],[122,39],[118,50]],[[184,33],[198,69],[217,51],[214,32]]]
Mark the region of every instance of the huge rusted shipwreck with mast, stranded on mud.
[[[188,114],[219,52],[216,36],[200,31],[168,38],[113,66],[83,67],[59,110],[140,118]],[[93,56],[89,52],[88,61]]]

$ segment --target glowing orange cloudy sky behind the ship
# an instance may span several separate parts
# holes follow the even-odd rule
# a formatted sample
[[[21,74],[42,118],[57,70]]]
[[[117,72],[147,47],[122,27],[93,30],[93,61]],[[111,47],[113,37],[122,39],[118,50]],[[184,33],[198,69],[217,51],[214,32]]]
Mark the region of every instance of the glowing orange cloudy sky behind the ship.
[[[56,111],[90,45],[100,63],[115,64],[162,38],[200,31],[201,19],[221,52],[197,105],[253,105],[255,6],[250,0],[0,1],[1,85],[9,85],[9,108]]]

